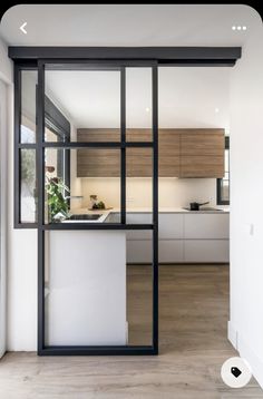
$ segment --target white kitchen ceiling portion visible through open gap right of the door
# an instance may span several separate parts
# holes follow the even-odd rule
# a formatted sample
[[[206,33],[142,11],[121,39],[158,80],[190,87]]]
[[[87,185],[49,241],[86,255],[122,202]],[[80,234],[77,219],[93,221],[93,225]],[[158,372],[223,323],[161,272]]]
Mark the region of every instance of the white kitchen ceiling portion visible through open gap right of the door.
[[[230,75],[225,67],[159,68],[159,127],[222,127],[228,133]]]

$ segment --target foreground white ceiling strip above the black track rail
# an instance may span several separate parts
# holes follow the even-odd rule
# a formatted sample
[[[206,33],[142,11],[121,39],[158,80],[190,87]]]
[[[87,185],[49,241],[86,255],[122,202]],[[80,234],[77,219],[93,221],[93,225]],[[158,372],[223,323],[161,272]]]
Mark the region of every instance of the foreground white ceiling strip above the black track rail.
[[[20,4],[0,35],[12,46],[242,46],[255,23],[243,4]]]

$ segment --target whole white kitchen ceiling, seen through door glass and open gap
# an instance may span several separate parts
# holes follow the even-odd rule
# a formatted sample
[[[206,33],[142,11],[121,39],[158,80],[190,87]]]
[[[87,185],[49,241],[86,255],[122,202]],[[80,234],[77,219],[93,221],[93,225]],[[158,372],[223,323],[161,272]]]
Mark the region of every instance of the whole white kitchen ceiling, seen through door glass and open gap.
[[[159,127],[228,126],[231,68],[159,68]],[[46,91],[75,127],[120,126],[118,71],[47,71]],[[127,127],[152,127],[152,75],[126,70]]]

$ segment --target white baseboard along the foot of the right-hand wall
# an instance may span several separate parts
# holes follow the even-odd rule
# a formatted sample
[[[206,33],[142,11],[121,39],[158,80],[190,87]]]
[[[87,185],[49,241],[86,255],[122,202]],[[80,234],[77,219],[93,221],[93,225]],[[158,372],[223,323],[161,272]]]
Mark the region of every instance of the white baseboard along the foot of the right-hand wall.
[[[251,348],[250,341],[235,329],[231,321],[228,321],[227,338],[238,351],[240,357],[244,358],[250,363],[254,378],[263,389],[263,361]]]

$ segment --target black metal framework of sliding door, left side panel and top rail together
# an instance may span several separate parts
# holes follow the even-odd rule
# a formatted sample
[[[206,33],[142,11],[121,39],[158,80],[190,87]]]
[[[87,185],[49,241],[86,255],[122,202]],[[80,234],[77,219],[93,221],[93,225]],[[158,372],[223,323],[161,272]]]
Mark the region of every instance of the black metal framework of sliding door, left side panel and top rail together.
[[[14,198],[14,226],[38,228],[38,354],[157,354],[158,353],[158,65],[159,66],[225,66],[233,67],[241,58],[240,47],[9,47],[9,57],[14,66],[14,193],[19,193],[19,149],[36,148],[38,184],[38,223],[21,224],[19,221],[19,196]],[[119,143],[45,143],[45,65],[85,64],[90,68],[118,68],[120,70],[121,117]],[[38,65],[38,124],[37,143],[21,144],[20,137],[20,78],[21,69],[36,69]],[[125,126],[125,68],[150,67],[153,74],[153,142],[127,143]],[[59,66],[58,66],[59,68]],[[61,145],[62,144],[62,145]],[[119,224],[45,224],[45,148],[120,148],[121,165],[121,218]],[[126,224],[126,148],[153,148],[153,223]],[[152,230],[153,231],[153,343],[152,346],[121,347],[46,347],[45,346],[45,232],[51,230]]]

